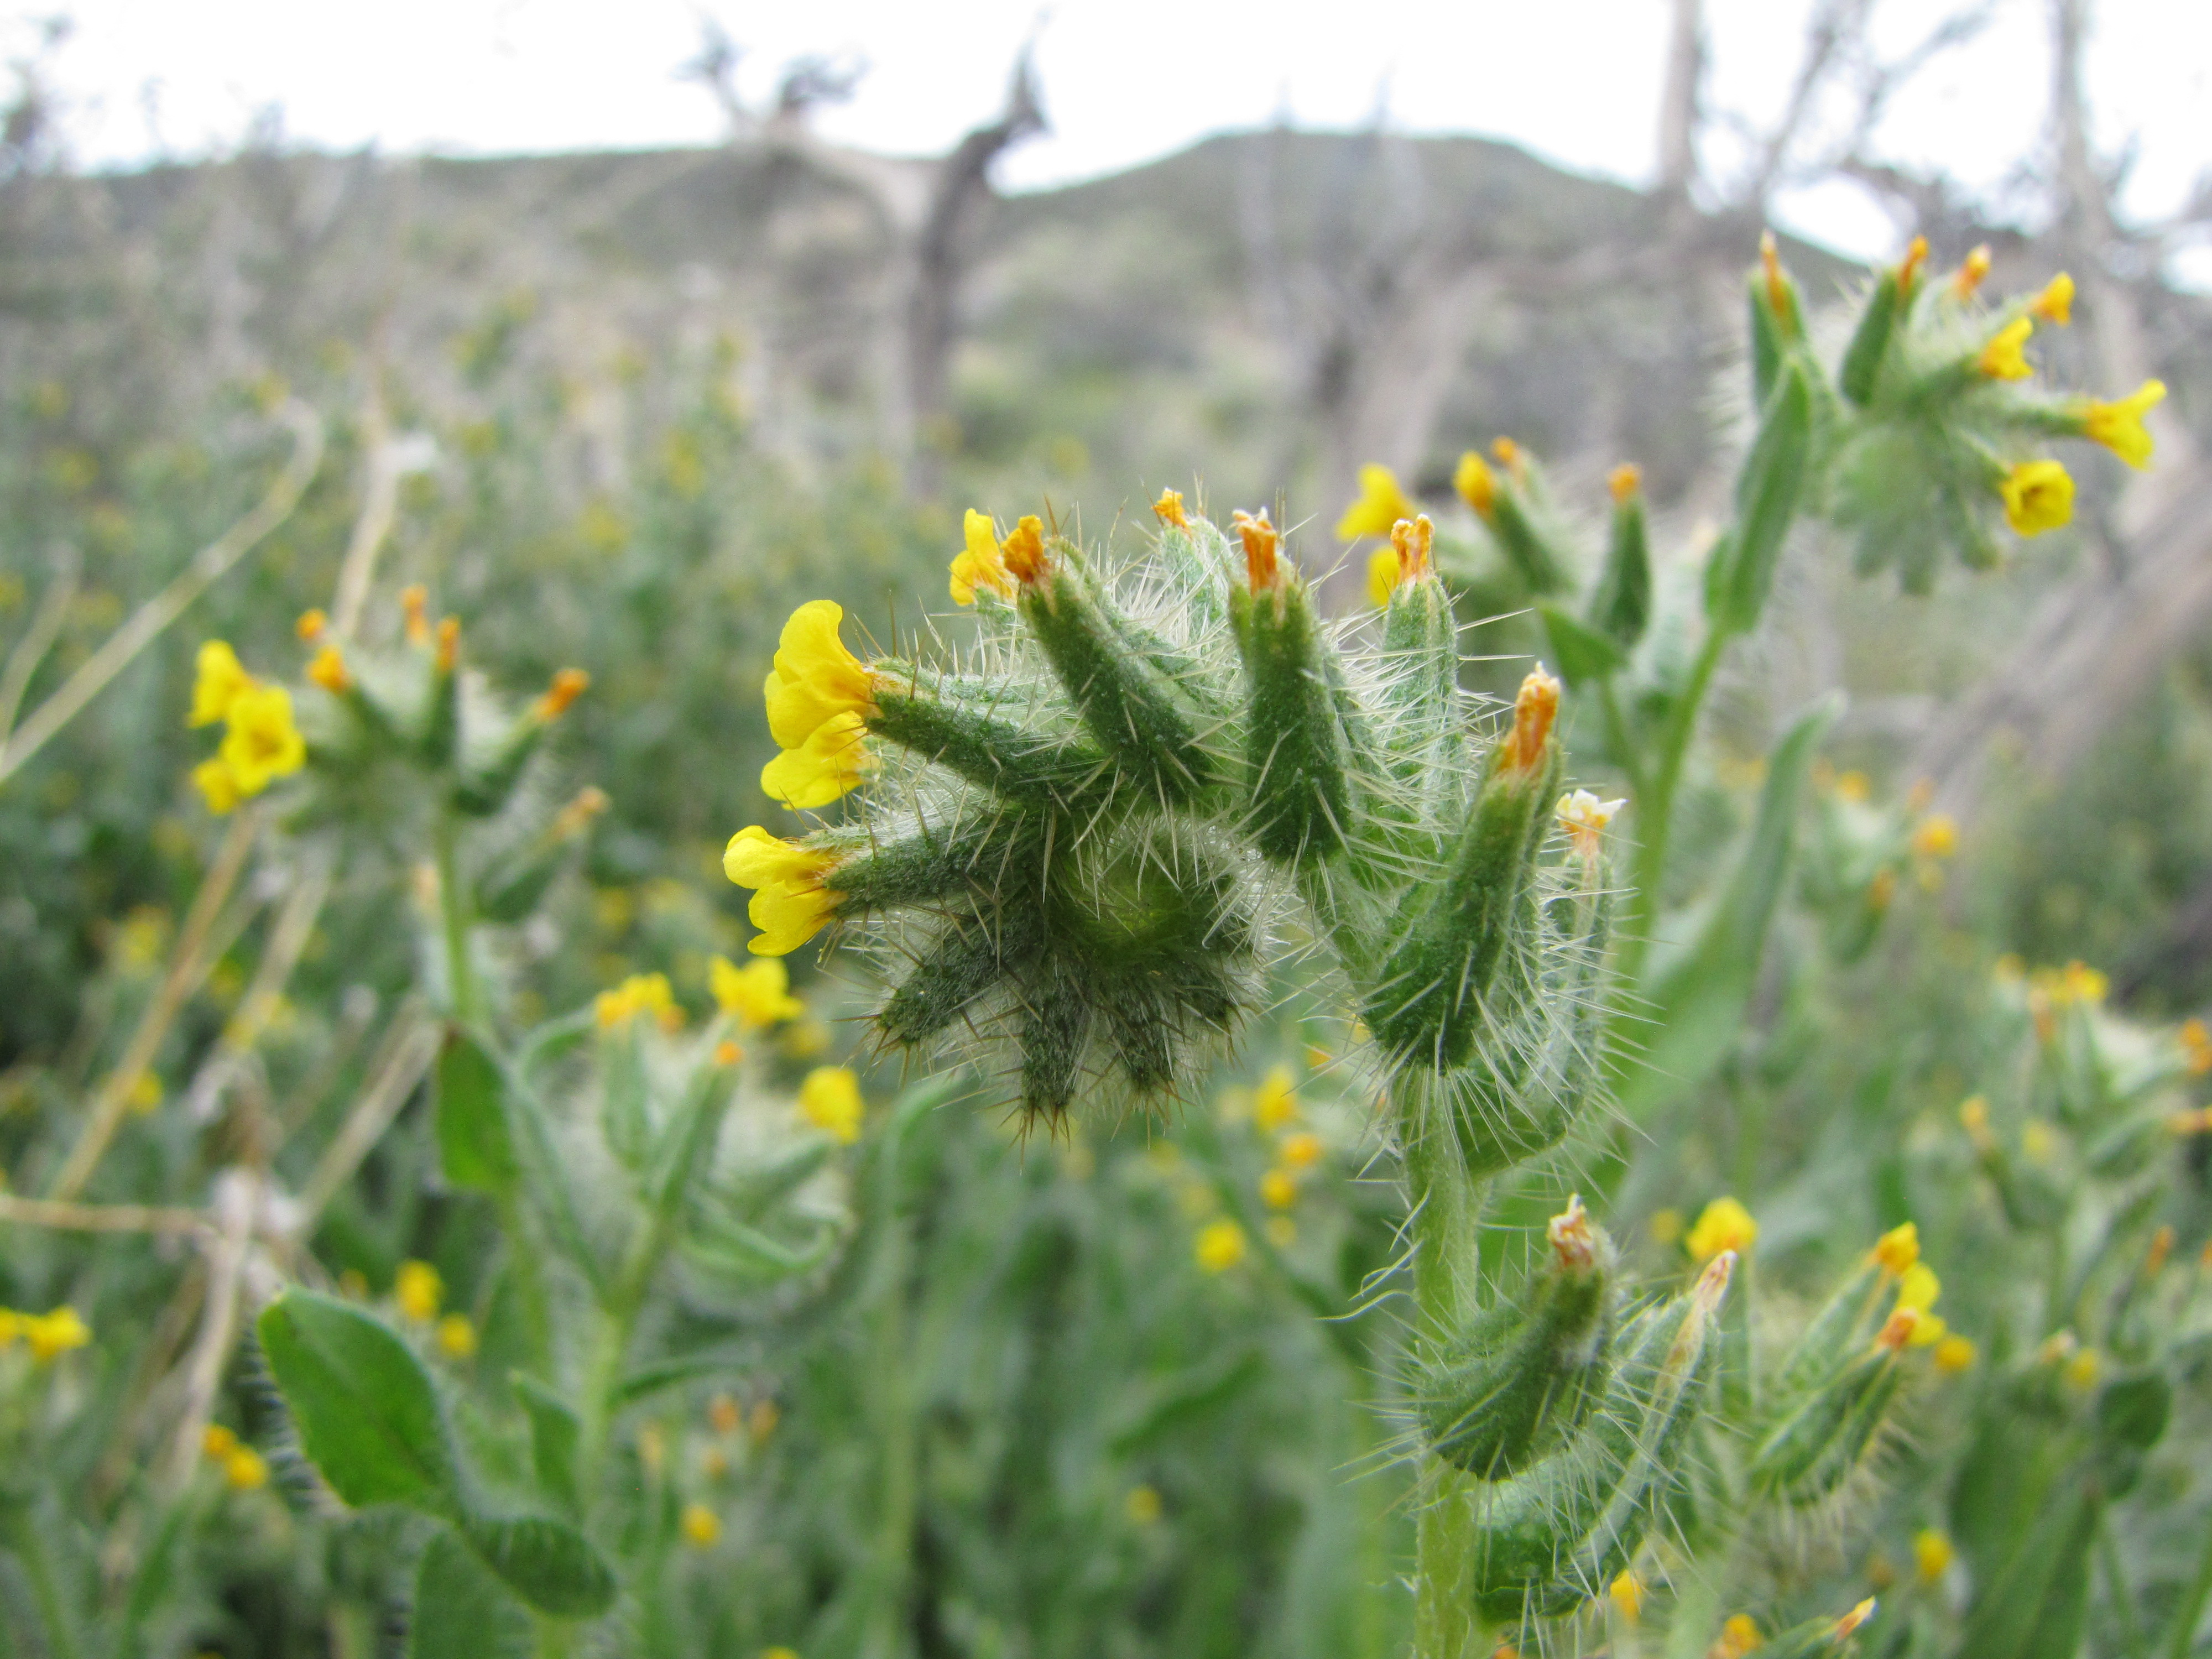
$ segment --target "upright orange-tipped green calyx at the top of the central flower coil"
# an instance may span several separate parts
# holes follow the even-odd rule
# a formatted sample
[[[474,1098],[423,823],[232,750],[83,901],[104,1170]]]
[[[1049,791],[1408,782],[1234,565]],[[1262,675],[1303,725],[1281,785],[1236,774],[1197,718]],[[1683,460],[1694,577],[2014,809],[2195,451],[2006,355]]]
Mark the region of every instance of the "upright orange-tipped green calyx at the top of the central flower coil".
[[[1292,571],[1263,593],[1230,591],[1230,622],[1243,655],[1250,790],[1248,825],[1263,856],[1325,858],[1345,843],[1352,787],[1336,699],[1321,672],[1321,617]]]

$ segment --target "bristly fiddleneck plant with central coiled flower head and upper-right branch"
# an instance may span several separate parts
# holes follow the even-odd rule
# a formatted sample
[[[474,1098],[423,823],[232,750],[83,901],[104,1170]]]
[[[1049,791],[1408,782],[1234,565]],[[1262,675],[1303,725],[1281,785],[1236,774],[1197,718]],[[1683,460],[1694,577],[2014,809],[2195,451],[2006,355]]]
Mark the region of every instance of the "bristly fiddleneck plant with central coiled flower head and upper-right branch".
[[[2157,385],[2121,405],[2008,389],[2031,312],[2064,321],[2064,279],[1991,332],[1973,263],[1931,296],[1922,252],[1880,276],[1825,367],[1767,243],[1752,274],[1761,414],[1739,515],[1705,557],[1694,666],[1639,699],[1657,730],[1652,714],[1632,723],[1610,684],[1655,611],[1632,469],[1615,478],[1613,540],[1584,604],[1544,604],[1568,679],[1599,692],[1644,814],[1626,880],[1630,973],[1703,692],[1725,644],[1756,626],[1798,513],[1858,526],[1863,562],[1876,562],[1902,529],[1885,502],[1918,491],[1942,513],[1916,524],[1940,522],[1969,564],[1986,564],[1984,520],[2000,509],[2017,533],[2070,513],[2057,462],[2002,458],[2017,434],[2093,438],[2130,462],[2148,453],[2137,438]],[[1502,473],[1467,456],[1458,489],[1522,584],[1564,597],[1586,562],[1546,513],[1526,453],[1498,453]],[[796,810],[867,794],[858,814],[799,841],[741,830],[723,867],[754,889],[757,953],[830,927],[860,940],[894,987],[880,1035],[1009,1053],[1020,1110],[1046,1126],[1079,1097],[1113,1110],[1188,1093],[1203,1046],[1254,1006],[1263,969],[1318,947],[1316,973],[1371,1037],[1405,1175],[1418,1310],[1407,1391],[1422,1447],[1416,1650],[1436,1659],[1489,1652],[1495,1635],[1608,1586],[1635,1593],[1630,1566],[1659,1526],[1697,1540],[1725,1531],[1717,1511],[1825,1502],[1878,1442],[1902,1354],[1942,1325],[1933,1276],[1900,1267],[1902,1248],[1885,1241],[1761,1380],[1747,1321],[1723,1314],[1734,1250],[1705,1252],[1686,1294],[1628,1305],[1579,1203],[1551,1223],[1551,1263],[1517,1296],[1484,1285],[1486,1181],[1557,1148],[1606,1088],[1621,887],[1606,832],[1621,803],[1562,792],[1562,681],[1546,668],[1522,681],[1506,730],[1480,730],[1436,529],[1398,504],[1411,507],[1398,498],[1371,526],[1389,535],[1371,564],[1378,626],[1321,615],[1265,511],[1223,531],[1166,491],[1152,546],[1126,568],[1040,518],[1002,535],[971,511],[951,566],[951,597],[978,619],[964,661],[863,661],[838,606],[794,613],[765,684],[783,752],[763,790]],[[1905,580],[1922,586],[1922,566]],[[1809,721],[1787,739],[1792,779],[1818,732]],[[1794,794],[1778,814],[1790,807]],[[1723,920],[1745,931],[1728,907]],[[1725,1491],[1701,1491],[1708,1391],[1739,1449]],[[1865,1617],[1792,1639],[1823,1652]]]

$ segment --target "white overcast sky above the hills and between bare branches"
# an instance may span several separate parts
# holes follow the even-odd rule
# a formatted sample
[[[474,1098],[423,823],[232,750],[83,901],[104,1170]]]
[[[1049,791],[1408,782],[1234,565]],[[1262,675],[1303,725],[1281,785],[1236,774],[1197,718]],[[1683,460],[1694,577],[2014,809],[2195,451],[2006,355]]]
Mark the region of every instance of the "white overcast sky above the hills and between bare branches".
[[[1902,51],[1953,4],[1880,0],[1880,38]],[[1896,102],[1880,148],[1942,159],[2002,197],[2042,137],[2048,0],[1995,7],[1984,35]],[[1708,0],[1712,102],[1772,119],[1809,9]],[[1378,104],[1402,131],[1504,137],[1641,181],[1666,55],[1666,0],[49,0],[0,13],[0,51],[29,53],[33,20],[55,11],[75,20],[51,73],[86,166],[219,153],[270,106],[290,142],[321,148],[706,144],[721,115],[677,69],[714,15],[745,46],[754,100],[801,53],[860,55],[858,95],[821,126],[883,150],[940,150],[984,119],[1035,35],[1053,131],[1006,159],[1013,188],[1110,173],[1279,113],[1356,126]],[[2174,212],[2212,175],[2208,93],[2212,0],[2099,2],[2090,97],[2104,153],[2135,155],[2135,215]],[[1781,217],[1860,254],[1893,243],[1854,188],[1801,192]],[[2205,263],[2212,250],[2190,259]]]

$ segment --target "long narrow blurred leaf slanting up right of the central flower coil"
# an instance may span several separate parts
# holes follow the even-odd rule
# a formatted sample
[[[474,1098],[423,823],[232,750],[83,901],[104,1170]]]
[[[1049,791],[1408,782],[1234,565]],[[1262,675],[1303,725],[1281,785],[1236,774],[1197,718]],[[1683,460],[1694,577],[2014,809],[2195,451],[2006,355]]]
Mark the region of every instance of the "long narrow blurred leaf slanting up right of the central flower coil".
[[[1628,1024],[1630,1042],[1641,1035],[1644,1053],[1621,1079],[1626,1110],[1655,1106],[1697,1086],[1734,1046],[1796,849],[1805,776],[1836,712],[1836,699],[1818,703],[1774,745],[1752,834],[1703,931],[1688,951],[1657,967],[1644,987],[1644,1024]]]

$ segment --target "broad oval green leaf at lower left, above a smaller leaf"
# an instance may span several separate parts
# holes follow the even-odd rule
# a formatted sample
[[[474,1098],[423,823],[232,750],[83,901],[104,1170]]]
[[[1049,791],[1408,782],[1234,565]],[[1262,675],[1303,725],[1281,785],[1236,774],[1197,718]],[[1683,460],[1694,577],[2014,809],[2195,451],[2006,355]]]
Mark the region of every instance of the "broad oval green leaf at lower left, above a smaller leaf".
[[[257,1325],[301,1449],[354,1509],[458,1509],[445,1411],[414,1352],[358,1307],[288,1290]]]

